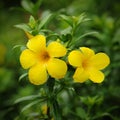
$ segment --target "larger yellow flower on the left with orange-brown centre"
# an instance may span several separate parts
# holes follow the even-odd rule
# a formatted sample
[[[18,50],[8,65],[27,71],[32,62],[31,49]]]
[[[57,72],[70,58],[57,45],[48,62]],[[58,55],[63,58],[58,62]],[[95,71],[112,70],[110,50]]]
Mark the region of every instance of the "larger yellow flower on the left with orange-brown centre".
[[[27,48],[20,55],[20,63],[24,69],[29,68],[28,77],[35,85],[47,81],[47,72],[53,78],[63,78],[67,72],[67,65],[57,57],[65,56],[66,48],[58,42],[51,42],[46,47],[43,35],[32,37]]]

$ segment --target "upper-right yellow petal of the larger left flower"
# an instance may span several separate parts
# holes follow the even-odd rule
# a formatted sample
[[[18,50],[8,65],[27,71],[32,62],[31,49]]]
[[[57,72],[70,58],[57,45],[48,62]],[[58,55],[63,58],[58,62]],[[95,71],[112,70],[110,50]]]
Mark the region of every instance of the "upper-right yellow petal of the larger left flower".
[[[47,50],[52,57],[62,57],[65,56],[67,49],[60,43],[58,42],[51,42]]]

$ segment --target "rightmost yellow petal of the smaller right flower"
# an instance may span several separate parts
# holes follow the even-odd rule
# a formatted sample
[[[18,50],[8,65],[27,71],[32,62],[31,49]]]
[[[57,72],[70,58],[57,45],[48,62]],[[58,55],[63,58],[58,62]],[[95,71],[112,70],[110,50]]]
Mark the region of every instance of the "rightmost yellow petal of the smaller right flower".
[[[104,69],[110,63],[109,57],[105,53],[97,53],[90,59],[90,64],[96,69]]]

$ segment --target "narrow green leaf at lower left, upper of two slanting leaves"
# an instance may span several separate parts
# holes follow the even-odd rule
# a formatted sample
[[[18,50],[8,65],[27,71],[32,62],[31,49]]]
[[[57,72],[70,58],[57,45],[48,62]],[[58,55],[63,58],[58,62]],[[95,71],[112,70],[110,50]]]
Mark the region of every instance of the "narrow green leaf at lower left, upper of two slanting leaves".
[[[30,96],[21,97],[21,98],[18,98],[14,103],[16,104],[16,103],[20,103],[27,100],[34,100],[35,98],[40,99],[40,95],[30,95]]]

